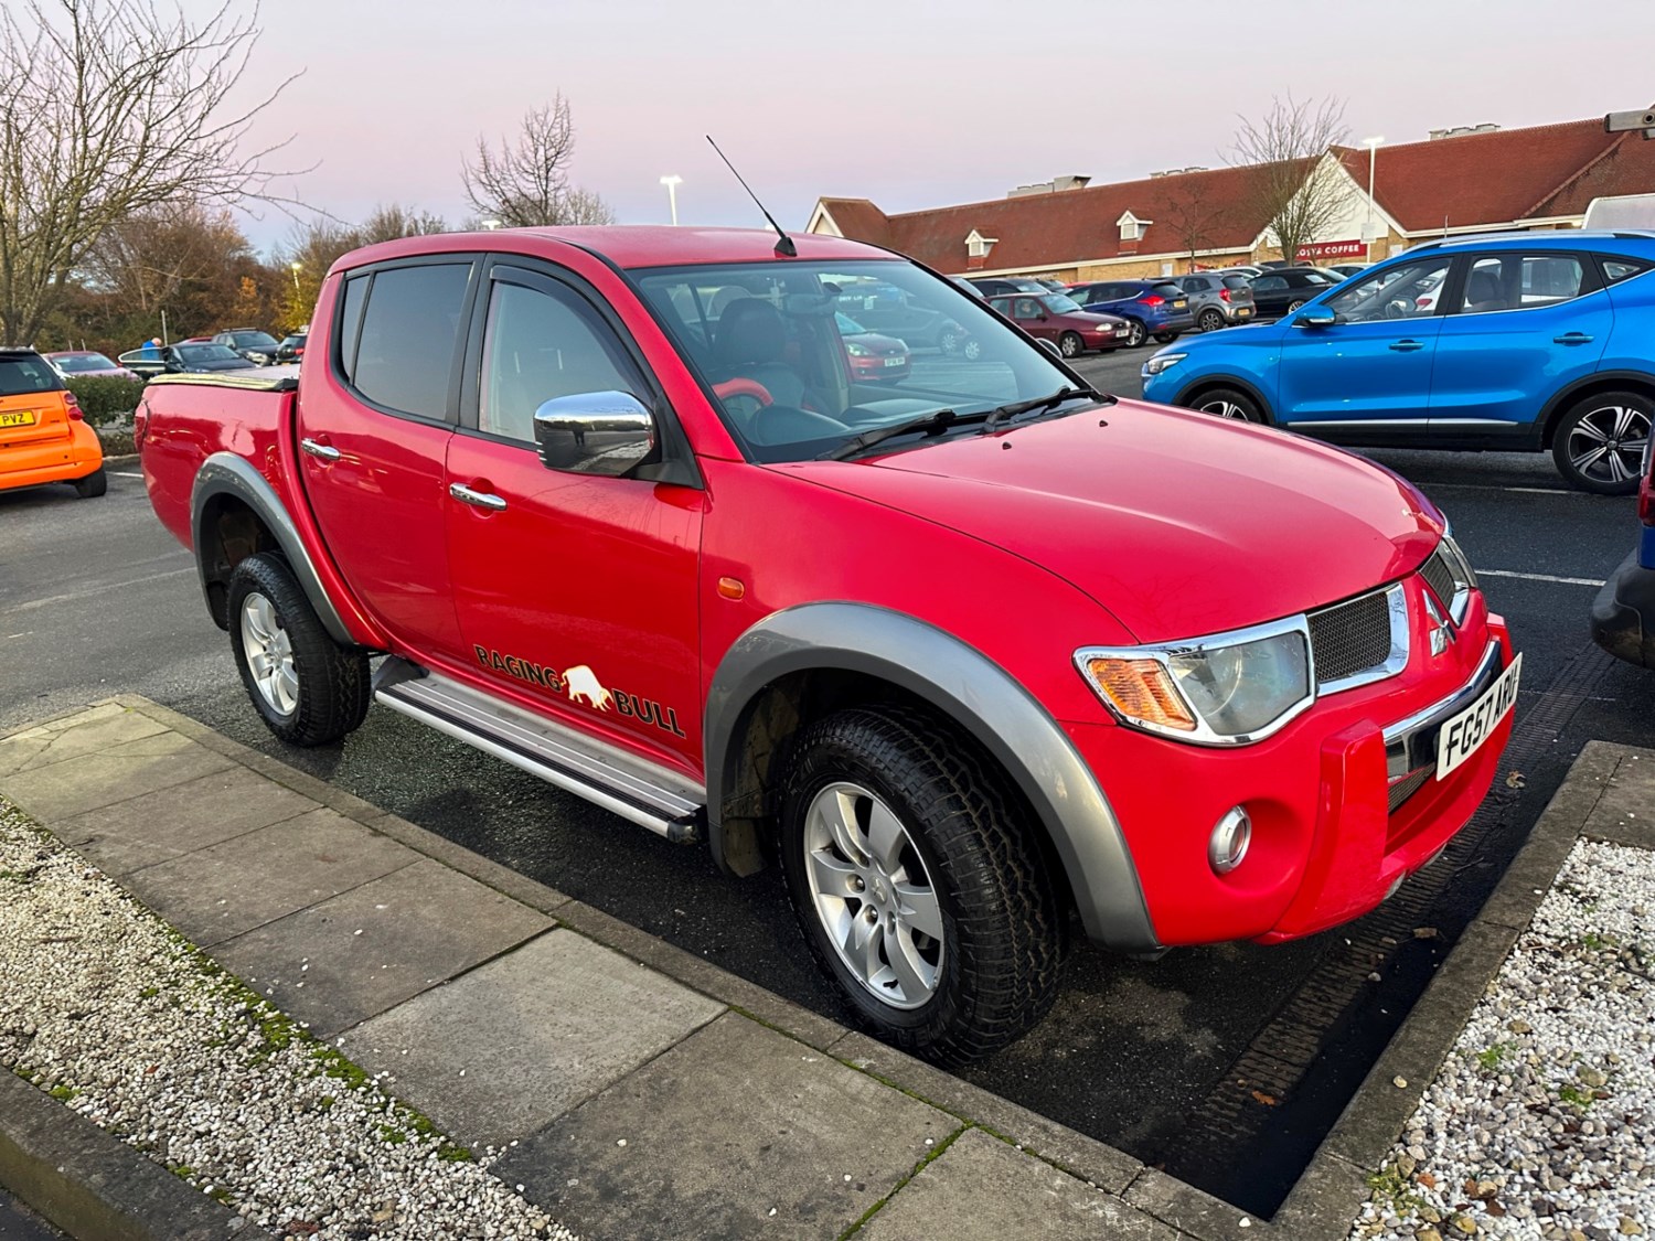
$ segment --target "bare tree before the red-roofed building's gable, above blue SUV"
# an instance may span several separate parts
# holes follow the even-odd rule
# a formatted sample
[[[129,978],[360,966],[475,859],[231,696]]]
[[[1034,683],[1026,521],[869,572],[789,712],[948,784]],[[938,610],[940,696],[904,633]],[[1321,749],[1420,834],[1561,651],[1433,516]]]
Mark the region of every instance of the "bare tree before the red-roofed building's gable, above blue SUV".
[[[1332,223],[1346,202],[1342,179],[1321,167],[1327,149],[1346,139],[1344,103],[1271,101],[1258,121],[1241,117],[1231,152],[1250,169],[1248,200],[1274,233],[1289,263]]]

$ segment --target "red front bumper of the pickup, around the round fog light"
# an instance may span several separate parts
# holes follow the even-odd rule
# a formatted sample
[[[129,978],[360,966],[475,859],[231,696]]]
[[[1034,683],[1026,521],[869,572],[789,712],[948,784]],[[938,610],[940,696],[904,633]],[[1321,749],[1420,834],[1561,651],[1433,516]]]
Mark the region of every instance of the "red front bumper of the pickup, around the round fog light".
[[[1410,581],[1407,589],[1418,591]],[[1410,624],[1423,625],[1410,601]],[[1394,678],[1324,695],[1281,733],[1200,750],[1117,725],[1069,725],[1109,796],[1158,943],[1274,943],[1349,922],[1385,900],[1470,821],[1511,735],[1508,715],[1460,768],[1435,779],[1437,731],[1511,662],[1481,596],[1445,655],[1415,634]],[[1233,806],[1253,821],[1235,870],[1206,860]]]

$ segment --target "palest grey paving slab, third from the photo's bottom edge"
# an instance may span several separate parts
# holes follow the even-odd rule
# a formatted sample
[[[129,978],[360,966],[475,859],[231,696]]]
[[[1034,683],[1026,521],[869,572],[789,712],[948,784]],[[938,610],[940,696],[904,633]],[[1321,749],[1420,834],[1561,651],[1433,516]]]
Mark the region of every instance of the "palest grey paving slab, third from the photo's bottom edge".
[[[364,1021],[344,1054],[394,1074],[396,1094],[450,1133],[503,1147],[723,1011],[559,928]]]

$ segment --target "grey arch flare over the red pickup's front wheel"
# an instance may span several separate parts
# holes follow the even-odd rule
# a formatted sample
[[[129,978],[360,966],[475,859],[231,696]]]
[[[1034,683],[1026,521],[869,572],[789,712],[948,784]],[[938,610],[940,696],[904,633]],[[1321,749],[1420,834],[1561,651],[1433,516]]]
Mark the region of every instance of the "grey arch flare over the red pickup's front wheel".
[[[1039,816],[1074,892],[1087,937],[1119,951],[1160,945],[1120,824],[1056,720],[1000,665],[935,625],[851,602],[803,604],[765,617],[725,654],[707,693],[707,819],[728,867],[725,801],[740,779],[748,716],[763,690],[798,672],[844,670],[897,685],[965,728],[1016,781]]]

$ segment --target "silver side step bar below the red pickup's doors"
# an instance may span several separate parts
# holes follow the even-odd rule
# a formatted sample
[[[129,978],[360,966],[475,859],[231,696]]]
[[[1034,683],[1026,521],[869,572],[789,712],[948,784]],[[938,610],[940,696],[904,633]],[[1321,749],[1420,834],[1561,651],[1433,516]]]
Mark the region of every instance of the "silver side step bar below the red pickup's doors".
[[[705,836],[707,789],[399,655],[374,673],[374,700],[675,844]]]

